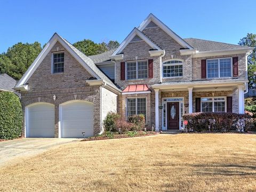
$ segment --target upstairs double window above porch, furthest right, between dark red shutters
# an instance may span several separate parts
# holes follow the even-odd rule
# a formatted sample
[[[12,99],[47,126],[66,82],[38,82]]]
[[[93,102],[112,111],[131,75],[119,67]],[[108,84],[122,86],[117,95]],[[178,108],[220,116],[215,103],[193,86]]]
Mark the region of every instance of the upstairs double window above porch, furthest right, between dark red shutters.
[[[231,58],[207,59],[207,78],[231,77]]]

